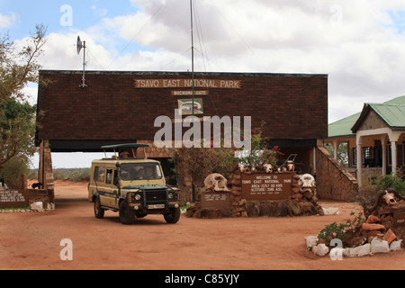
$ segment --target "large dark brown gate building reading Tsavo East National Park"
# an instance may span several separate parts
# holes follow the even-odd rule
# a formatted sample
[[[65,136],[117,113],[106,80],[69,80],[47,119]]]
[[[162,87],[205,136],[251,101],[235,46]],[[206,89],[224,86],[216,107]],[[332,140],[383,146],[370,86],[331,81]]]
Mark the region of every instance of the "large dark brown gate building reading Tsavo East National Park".
[[[82,83],[82,71],[40,71],[36,139],[48,155],[40,154],[42,177],[50,173],[50,152],[95,152],[126,142],[150,144],[148,157],[173,173],[167,161],[173,149],[157,148],[153,139],[157,117],[174,120],[175,109],[183,118],[193,110],[202,122],[250,116],[252,129],[265,121],[269,145],[286,157],[297,154],[306,173],[315,173],[314,148],[328,137],[327,75],[195,73],[192,82],[188,72],[86,71]]]

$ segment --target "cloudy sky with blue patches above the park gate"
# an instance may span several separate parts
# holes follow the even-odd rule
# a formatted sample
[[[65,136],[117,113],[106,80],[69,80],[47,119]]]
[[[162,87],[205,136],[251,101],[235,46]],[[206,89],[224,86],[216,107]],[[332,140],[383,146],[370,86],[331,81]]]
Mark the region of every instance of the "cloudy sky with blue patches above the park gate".
[[[44,69],[81,70],[80,36],[89,70],[191,70],[189,0],[0,0],[1,35],[23,43],[39,23]],[[329,122],[405,94],[403,0],[193,0],[193,44],[195,71],[328,74]]]

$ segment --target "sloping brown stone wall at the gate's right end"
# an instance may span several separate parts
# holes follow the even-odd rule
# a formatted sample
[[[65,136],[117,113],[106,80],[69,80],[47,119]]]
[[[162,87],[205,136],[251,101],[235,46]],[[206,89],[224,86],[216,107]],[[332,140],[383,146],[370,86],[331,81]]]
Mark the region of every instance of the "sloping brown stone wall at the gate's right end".
[[[356,177],[322,147],[316,152],[317,195],[322,199],[351,201],[358,192]]]

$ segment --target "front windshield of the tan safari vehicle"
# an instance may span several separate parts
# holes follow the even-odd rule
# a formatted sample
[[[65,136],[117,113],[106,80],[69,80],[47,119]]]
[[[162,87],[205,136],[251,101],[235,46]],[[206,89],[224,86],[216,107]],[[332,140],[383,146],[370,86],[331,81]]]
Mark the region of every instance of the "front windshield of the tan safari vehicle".
[[[121,179],[132,180],[155,180],[161,179],[162,172],[157,163],[122,163]]]

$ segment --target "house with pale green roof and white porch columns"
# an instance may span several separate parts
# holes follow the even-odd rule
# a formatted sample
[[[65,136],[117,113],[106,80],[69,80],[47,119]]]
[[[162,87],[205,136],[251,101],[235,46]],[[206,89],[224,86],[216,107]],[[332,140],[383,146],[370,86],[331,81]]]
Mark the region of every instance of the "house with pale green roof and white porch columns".
[[[374,175],[396,173],[404,166],[405,96],[384,103],[365,103],[358,112],[329,124],[329,138],[337,157],[338,146],[347,143],[348,169],[359,186]]]

